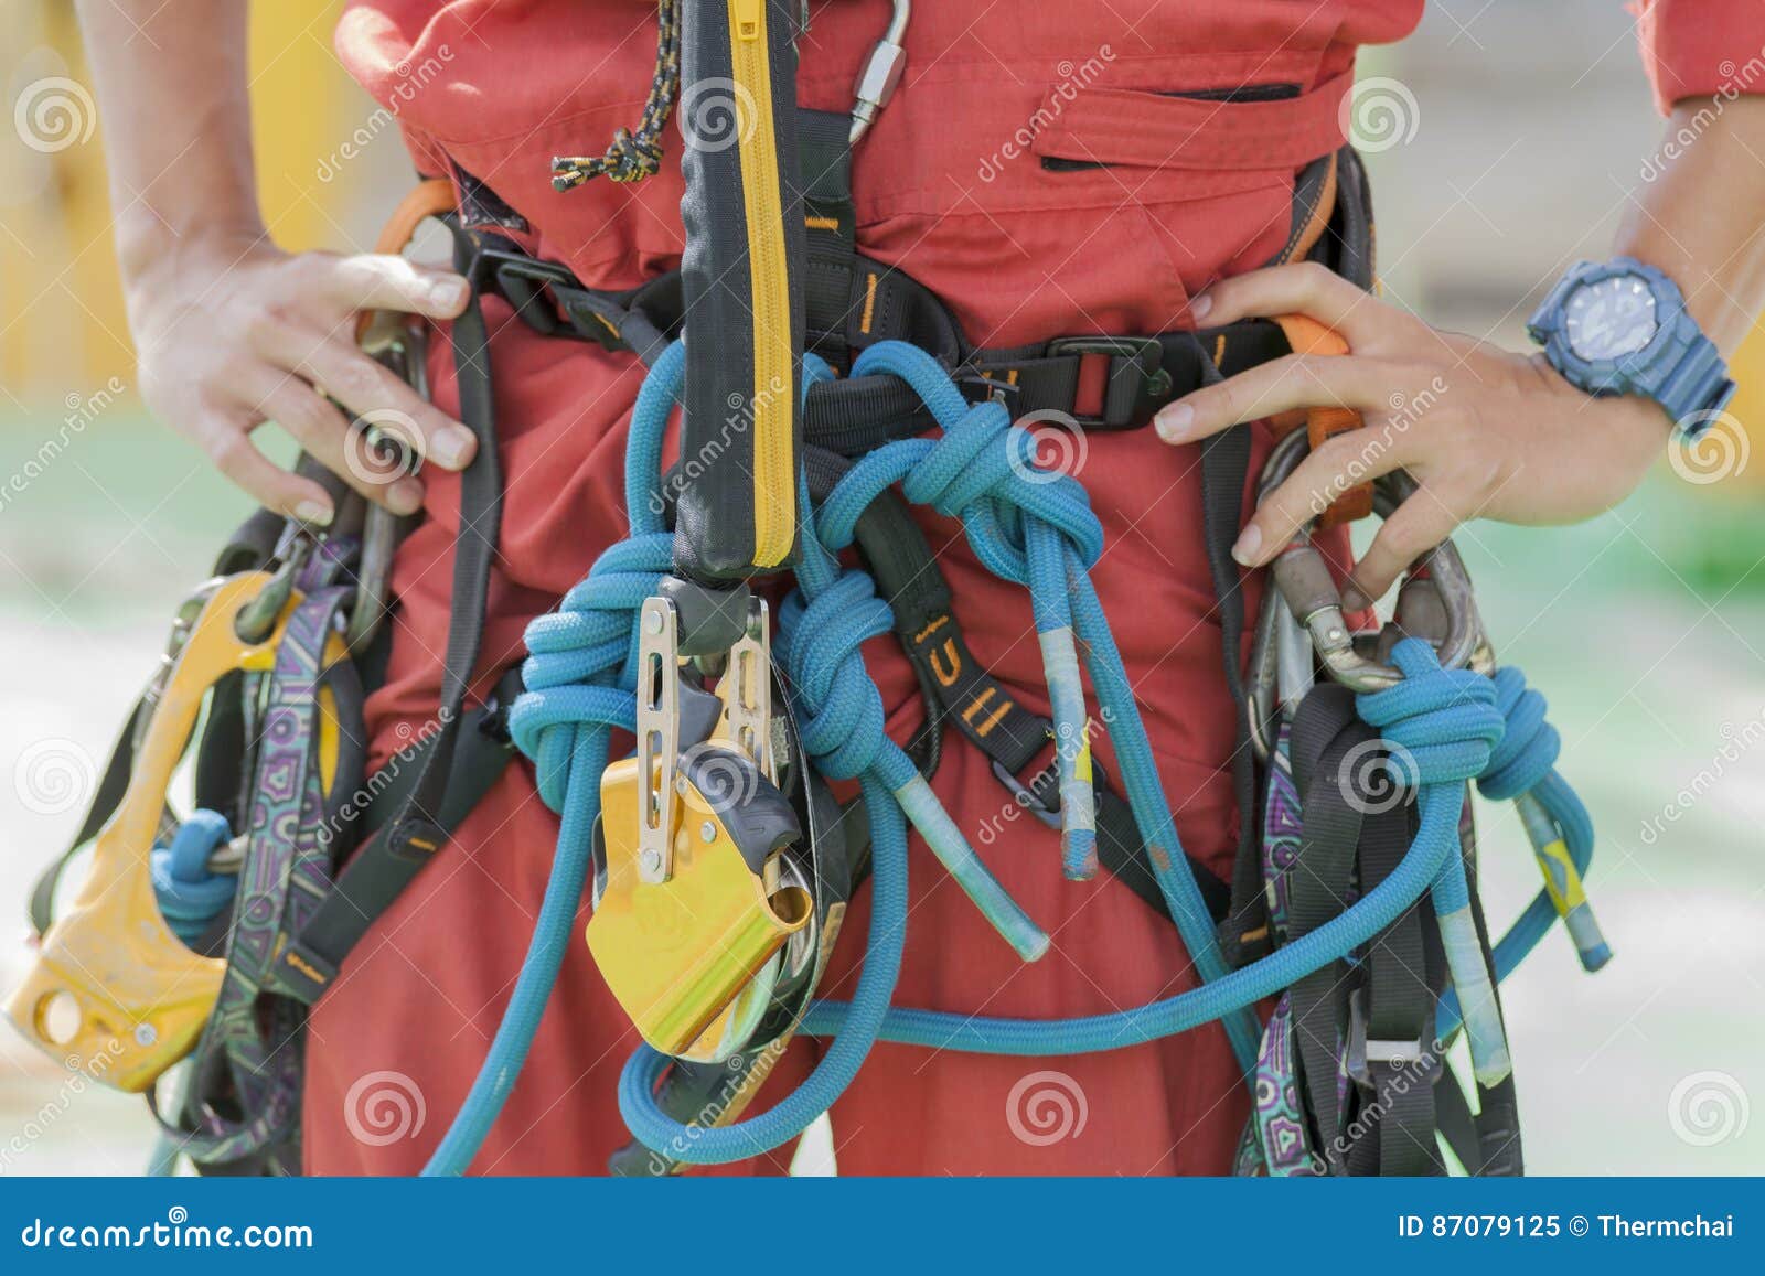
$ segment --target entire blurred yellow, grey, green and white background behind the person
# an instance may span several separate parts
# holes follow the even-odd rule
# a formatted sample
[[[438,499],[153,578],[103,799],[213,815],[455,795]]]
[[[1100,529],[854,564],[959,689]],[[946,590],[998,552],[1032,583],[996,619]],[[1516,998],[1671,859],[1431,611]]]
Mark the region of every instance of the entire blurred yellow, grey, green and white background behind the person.
[[[261,196],[293,249],[367,251],[409,178],[332,56],[337,7],[252,4]],[[1543,289],[1608,256],[1663,136],[1631,26],[1619,0],[1435,0],[1408,42],[1366,51],[1389,298],[1521,348]],[[171,609],[247,512],[132,395],[86,83],[65,0],[0,0],[0,985]],[[1714,447],[1619,510],[1460,537],[1594,812],[1617,949],[1587,978],[1557,934],[1506,985],[1539,1174],[1765,1172],[1765,339],[1737,376]],[[1509,810],[1483,828],[1500,925],[1537,872]],[[0,1025],[0,1175],[138,1174],[150,1144],[138,1098]]]

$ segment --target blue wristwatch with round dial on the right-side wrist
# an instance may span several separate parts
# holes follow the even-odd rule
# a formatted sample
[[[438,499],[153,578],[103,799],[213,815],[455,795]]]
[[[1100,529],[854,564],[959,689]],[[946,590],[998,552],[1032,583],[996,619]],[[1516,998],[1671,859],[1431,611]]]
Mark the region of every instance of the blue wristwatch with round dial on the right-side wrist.
[[[1654,399],[1687,438],[1735,395],[1721,351],[1686,312],[1679,286],[1633,258],[1576,263],[1527,332],[1569,385]]]

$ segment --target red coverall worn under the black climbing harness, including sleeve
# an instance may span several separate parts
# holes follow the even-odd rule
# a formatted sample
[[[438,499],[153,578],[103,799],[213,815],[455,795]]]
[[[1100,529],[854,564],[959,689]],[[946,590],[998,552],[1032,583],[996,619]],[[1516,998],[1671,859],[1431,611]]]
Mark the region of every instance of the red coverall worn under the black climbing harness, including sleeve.
[[[1341,83],[1329,81],[1352,71],[1356,46],[1407,35],[1421,5],[920,4],[905,79],[856,152],[860,251],[935,289],[978,346],[1183,327],[1195,291],[1281,251],[1294,171],[1340,145]],[[1742,26],[1758,25],[1744,12],[1751,0],[1643,7],[1663,102],[1716,92],[1719,62],[1744,64],[1737,49],[1765,42],[1742,39]],[[805,106],[851,108],[888,11],[888,0],[815,4],[801,44]],[[653,67],[653,0],[357,0],[337,51],[397,115],[418,169],[454,175],[457,166],[485,182],[531,226],[517,238],[535,254],[600,288],[628,288],[680,263],[678,162],[637,185],[602,178],[560,194],[549,184],[552,155],[598,154],[614,129],[635,124]],[[1303,97],[1271,127],[1267,113],[1168,95],[1246,85],[1296,85]],[[671,157],[680,146],[671,125]],[[1041,157],[1101,168],[1052,171]],[[482,657],[491,674],[519,658],[526,623],[625,533],[621,466],[641,367],[628,355],[538,337],[496,302],[487,311],[507,475]],[[454,409],[452,365],[438,346],[436,397]],[[1096,584],[1140,688],[1183,844],[1230,877],[1232,702],[1198,538],[1197,452],[1165,447],[1151,431],[1085,441],[1078,477],[1107,535]],[[394,568],[401,611],[390,674],[369,702],[376,764],[432,717],[439,695],[459,487],[436,469],[427,485],[429,517]],[[974,653],[1045,709],[1027,595],[981,568],[953,526],[930,515],[927,526]],[[1251,609],[1258,593],[1251,581]],[[890,732],[902,739],[920,722],[911,671],[888,637],[867,658],[891,706]],[[1101,752],[1107,762],[1107,745]],[[1054,833],[1001,822],[1006,794],[960,738],[935,789],[1055,946],[1020,964],[914,838],[897,1004],[1047,1018],[1124,1010],[1193,983],[1168,919],[1107,874],[1063,881]],[[357,948],[312,1017],[307,1172],[422,1167],[503,1015],[556,828],[528,764],[517,762]],[[868,893],[845,925],[824,995],[851,995],[867,927]],[[614,1089],[635,1043],[586,946],[572,944],[526,1070],[473,1168],[600,1172],[627,1140]],[[762,1105],[801,1077],[814,1048],[792,1047]],[[1063,1077],[1020,1085],[1036,1071]],[[1073,1112],[1054,1142],[1038,1137],[1031,1110],[1048,1085]],[[371,1110],[383,1087],[413,1105],[390,1142]],[[1218,1027],[1050,1061],[881,1045],[831,1114],[842,1174],[1218,1174],[1244,1115]],[[729,1172],[780,1172],[789,1151]]]

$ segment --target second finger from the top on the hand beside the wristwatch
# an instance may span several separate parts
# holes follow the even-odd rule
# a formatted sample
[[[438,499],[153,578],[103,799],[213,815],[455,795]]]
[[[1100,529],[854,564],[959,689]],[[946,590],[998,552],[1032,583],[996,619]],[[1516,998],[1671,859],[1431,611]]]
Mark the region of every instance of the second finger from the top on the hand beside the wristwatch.
[[[1296,408],[1391,409],[1393,394],[1426,385],[1428,371],[1357,355],[1283,355],[1207,385],[1153,418],[1167,443],[1193,443],[1220,431]]]

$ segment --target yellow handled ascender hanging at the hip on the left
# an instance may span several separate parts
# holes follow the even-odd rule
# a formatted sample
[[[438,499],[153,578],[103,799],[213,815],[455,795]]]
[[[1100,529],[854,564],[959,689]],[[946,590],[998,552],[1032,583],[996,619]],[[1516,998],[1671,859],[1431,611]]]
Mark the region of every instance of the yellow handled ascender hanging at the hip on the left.
[[[274,665],[298,593],[288,595],[261,641],[238,632],[240,612],[274,579],[270,572],[221,577],[185,602],[138,720],[129,787],[97,835],[79,893],[5,1001],[25,1038],[120,1091],[145,1091],[189,1054],[221,992],[226,962],[192,951],[166,925],[148,854],[171,819],[166,787],[208,690],[233,671]],[[342,657],[342,635],[334,642],[332,658]]]

